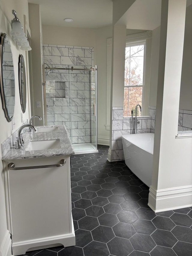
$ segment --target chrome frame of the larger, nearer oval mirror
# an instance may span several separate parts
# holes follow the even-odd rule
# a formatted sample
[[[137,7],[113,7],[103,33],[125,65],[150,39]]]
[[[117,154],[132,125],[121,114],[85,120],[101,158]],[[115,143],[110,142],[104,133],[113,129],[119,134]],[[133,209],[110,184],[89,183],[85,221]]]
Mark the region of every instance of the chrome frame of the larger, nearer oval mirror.
[[[3,33],[1,35],[1,42],[0,42],[0,93],[1,93],[1,101],[2,101],[2,107],[4,110],[5,117],[8,122],[11,122],[11,120],[13,119],[13,115],[10,116],[8,113],[5,94],[4,94],[4,84],[3,84],[3,74],[2,74],[3,73],[3,45],[4,45],[4,39],[6,36],[7,36],[7,34]],[[8,36],[7,36],[7,38],[8,38]],[[10,48],[10,50],[11,50],[11,48]],[[12,54],[12,52],[11,52],[11,54]],[[13,66],[13,72],[14,72],[14,66]],[[14,114],[14,111],[13,111],[13,114]]]

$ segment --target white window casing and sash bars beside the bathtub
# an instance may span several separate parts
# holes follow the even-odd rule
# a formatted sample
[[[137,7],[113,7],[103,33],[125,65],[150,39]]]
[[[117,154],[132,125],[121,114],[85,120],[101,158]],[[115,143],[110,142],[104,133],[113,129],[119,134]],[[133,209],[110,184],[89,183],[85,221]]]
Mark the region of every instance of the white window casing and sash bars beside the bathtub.
[[[151,48],[152,31],[126,36],[126,47],[145,43],[144,65],[143,65],[143,85],[124,86],[125,87],[143,87],[142,91],[142,116],[148,116],[149,91],[150,91],[150,71],[151,71]],[[125,116],[124,116],[125,117]]]

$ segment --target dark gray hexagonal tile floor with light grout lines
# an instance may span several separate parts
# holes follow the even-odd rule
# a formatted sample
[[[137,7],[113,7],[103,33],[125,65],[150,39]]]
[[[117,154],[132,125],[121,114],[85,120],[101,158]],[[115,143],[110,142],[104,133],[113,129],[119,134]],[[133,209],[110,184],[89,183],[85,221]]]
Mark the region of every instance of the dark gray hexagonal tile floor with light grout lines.
[[[107,146],[71,156],[76,246],[30,251],[27,256],[191,256],[192,207],[154,213],[149,188]]]

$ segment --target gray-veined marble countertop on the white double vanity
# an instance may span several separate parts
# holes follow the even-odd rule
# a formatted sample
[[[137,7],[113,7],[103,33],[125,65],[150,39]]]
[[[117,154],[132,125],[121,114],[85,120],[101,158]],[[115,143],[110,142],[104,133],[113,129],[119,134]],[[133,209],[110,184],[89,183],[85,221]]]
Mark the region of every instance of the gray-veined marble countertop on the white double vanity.
[[[44,126],[38,126],[44,127]],[[38,128],[36,127],[36,128]],[[58,131],[50,132],[24,132],[23,139],[25,141],[22,149],[15,149],[15,145],[2,157],[2,160],[24,159],[24,158],[37,158],[37,157],[50,157],[60,155],[73,155],[74,150],[70,142],[67,130],[64,125],[50,125],[46,127],[58,127]],[[33,150],[26,151],[30,141],[41,140],[60,140],[61,147],[56,149]]]

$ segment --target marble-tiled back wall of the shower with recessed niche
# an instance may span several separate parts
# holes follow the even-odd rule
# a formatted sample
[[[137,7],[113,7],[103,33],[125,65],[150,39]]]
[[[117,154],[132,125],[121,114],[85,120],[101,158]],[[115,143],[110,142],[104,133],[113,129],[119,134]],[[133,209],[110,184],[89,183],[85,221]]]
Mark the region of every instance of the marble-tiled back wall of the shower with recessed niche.
[[[44,44],[43,49],[46,67],[93,66],[93,47]],[[89,71],[51,70],[46,75],[46,102],[47,125],[65,125],[72,143],[91,141]]]

